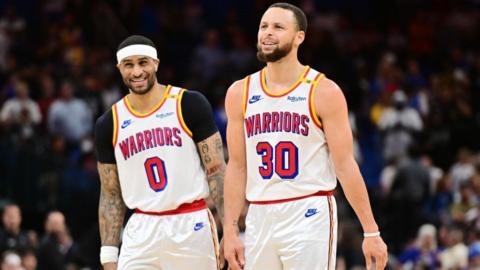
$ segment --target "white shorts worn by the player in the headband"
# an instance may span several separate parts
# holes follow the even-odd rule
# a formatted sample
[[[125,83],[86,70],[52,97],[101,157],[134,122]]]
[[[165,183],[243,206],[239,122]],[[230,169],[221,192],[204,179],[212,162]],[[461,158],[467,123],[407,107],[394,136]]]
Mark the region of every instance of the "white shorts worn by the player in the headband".
[[[123,232],[118,270],[219,269],[215,221],[208,209],[133,214]]]

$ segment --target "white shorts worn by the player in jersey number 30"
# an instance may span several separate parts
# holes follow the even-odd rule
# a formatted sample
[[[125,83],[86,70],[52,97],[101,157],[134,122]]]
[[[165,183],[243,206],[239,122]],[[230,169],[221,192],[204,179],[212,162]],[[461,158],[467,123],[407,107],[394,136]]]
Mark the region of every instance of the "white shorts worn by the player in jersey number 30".
[[[245,270],[335,269],[337,207],[333,195],[251,203]]]

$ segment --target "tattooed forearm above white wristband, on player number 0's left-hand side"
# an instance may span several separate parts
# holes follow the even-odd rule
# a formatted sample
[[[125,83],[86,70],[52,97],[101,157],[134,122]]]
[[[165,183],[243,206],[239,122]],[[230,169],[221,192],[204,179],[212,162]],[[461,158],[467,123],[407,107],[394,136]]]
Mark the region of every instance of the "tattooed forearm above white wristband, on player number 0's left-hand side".
[[[100,202],[98,222],[102,246],[118,246],[126,206],[122,199],[116,164],[98,163],[100,174]]]

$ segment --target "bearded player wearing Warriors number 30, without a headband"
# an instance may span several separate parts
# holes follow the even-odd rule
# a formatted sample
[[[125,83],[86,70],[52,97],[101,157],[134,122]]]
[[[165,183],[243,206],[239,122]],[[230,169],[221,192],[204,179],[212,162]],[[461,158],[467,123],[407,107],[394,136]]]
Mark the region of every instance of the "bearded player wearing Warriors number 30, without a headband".
[[[335,269],[338,177],[364,230],[367,268],[373,259],[383,269],[387,247],[353,158],[345,98],[297,58],[306,28],[299,8],[271,5],[258,30],[266,67],[228,89],[225,258],[231,269]],[[245,199],[244,246],[237,223]]]

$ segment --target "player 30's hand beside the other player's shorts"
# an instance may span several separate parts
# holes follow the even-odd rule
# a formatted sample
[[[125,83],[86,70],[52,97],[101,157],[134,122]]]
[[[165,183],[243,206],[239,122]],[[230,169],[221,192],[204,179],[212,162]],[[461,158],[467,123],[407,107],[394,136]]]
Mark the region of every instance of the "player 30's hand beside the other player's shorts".
[[[228,269],[241,270],[245,266],[245,247],[238,236],[238,228],[236,231],[227,232],[225,229],[223,231],[225,232],[223,252],[228,261]]]

